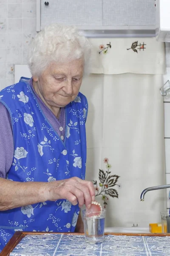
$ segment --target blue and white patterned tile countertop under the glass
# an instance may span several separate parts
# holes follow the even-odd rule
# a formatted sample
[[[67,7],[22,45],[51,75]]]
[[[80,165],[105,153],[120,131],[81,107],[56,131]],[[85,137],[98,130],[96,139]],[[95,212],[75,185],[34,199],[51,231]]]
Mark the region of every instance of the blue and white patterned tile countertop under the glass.
[[[170,256],[170,236],[105,236],[100,244],[81,235],[27,235],[10,256]]]

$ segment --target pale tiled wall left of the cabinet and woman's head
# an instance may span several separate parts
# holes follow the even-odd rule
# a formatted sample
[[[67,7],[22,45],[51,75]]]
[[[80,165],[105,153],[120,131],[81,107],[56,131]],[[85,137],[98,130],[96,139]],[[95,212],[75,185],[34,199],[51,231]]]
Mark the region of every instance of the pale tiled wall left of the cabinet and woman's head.
[[[14,83],[14,64],[26,64],[35,17],[36,0],[0,0],[0,89]]]

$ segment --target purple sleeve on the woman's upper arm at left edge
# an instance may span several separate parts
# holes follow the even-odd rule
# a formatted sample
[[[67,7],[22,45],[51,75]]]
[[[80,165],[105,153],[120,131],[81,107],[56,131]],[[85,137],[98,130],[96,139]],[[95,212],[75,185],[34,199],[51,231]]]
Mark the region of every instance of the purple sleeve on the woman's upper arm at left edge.
[[[0,102],[0,177],[5,178],[14,156],[11,117]]]

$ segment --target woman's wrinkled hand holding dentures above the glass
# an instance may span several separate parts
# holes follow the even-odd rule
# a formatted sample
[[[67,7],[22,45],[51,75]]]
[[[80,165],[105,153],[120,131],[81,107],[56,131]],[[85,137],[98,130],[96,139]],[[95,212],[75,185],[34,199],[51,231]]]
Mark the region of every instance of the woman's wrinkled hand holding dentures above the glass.
[[[73,205],[79,204],[79,207],[82,207],[85,204],[89,209],[91,201],[95,199],[94,186],[91,181],[81,180],[78,177],[56,180],[46,183],[45,198],[49,201],[67,199]]]

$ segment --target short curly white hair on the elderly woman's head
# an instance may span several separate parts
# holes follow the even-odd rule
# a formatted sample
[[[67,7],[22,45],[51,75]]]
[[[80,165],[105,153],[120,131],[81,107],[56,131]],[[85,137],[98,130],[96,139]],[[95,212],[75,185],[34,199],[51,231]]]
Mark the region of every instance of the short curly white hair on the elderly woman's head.
[[[84,72],[88,72],[91,44],[79,35],[74,26],[51,24],[33,39],[28,50],[28,65],[32,76],[39,76],[51,62],[65,62],[84,58]]]

